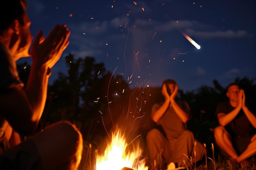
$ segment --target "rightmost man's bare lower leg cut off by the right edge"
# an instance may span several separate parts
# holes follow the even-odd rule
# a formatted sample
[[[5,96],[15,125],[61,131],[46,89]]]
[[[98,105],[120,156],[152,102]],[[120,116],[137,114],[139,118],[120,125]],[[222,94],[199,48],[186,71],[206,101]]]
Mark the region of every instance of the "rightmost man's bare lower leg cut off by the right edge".
[[[236,159],[236,161],[240,163],[254,155],[256,155],[256,135],[252,137],[251,143],[247,146],[246,150]]]

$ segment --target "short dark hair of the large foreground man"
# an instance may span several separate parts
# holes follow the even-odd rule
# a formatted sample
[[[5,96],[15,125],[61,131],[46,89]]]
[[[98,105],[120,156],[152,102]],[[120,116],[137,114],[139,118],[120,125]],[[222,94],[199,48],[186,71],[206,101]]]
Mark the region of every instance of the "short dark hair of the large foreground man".
[[[18,20],[24,25],[22,16],[25,14],[24,8],[27,8],[25,0],[3,0],[0,10],[0,35],[11,25],[14,20]]]

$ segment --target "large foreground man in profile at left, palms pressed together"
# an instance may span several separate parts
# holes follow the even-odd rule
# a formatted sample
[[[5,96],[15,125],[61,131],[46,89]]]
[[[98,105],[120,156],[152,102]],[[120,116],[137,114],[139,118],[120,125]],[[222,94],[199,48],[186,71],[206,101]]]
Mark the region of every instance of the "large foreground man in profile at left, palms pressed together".
[[[68,121],[36,128],[45,107],[50,69],[69,44],[70,31],[57,24],[44,38],[33,39],[25,0],[4,0],[0,10],[0,170],[76,170],[83,139]],[[16,61],[32,57],[27,85],[19,78]],[[29,136],[20,141],[19,134]]]

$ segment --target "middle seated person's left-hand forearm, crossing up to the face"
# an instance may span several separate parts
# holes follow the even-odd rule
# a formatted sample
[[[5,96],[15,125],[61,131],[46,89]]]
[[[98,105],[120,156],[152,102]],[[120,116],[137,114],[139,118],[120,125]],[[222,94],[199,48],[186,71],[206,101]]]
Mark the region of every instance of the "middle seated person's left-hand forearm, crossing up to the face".
[[[168,95],[167,87],[165,84],[162,86],[162,94],[164,95],[165,99],[164,103],[157,110],[154,110],[153,113],[151,114],[151,118],[154,122],[159,121],[159,119],[161,119],[161,117],[164,115],[164,113],[170,106],[170,97]]]

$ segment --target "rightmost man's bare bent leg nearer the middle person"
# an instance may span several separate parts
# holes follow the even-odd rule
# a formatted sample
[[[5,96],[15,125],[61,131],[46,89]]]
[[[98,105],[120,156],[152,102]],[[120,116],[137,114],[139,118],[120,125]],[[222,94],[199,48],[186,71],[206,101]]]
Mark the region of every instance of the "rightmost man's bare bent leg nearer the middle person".
[[[233,144],[231,142],[231,136],[227,132],[227,130],[223,126],[217,126],[214,129],[214,138],[216,141],[216,144],[227,154],[232,157],[233,159],[238,158],[238,154],[236,153],[236,150],[233,147]]]

